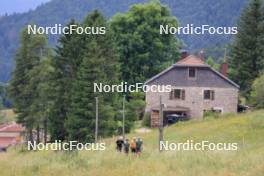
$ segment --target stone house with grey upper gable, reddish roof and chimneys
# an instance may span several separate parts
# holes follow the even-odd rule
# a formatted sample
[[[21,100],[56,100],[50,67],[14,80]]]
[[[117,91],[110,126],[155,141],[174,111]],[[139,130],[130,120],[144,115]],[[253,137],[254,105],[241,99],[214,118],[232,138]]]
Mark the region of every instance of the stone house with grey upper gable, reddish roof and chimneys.
[[[182,54],[182,58],[145,82],[145,85],[171,85],[170,92],[146,92],[146,112],[151,126],[159,124],[160,97],[163,118],[170,114],[202,119],[207,110],[236,113],[239,86],[227,78],[227,64],[221,73],[205,64],[201,57]]]

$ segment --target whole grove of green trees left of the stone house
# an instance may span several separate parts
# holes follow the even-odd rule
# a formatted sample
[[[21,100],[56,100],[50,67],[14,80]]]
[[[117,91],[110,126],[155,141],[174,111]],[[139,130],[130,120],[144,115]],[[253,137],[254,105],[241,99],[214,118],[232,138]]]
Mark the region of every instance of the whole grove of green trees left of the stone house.
[[[173,35],[159,35],[159,24],[177,25],[169,9],[158,2],[134,5],[110,20],[94,10],[82,23],[106,26],[105,35],[63,34],[55,49],[47,36],[20,36],[16,67],[8,88],[17,122],[28,130],[29,140],[43,131],[45,142],[91,142],[95,130],[95,97],[99,99],[99,136],[120,133],[122,96],[93,92],[93,83],[144,82],[176,61],[179,42]],[[126,132],[144,115],[144,95],[126,95]]]

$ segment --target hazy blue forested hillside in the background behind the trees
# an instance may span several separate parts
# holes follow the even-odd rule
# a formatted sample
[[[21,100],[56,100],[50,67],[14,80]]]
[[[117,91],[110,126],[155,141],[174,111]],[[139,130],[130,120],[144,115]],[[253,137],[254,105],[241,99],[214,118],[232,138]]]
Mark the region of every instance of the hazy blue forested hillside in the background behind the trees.
[[[110,18],[117,12],[125,12],[130,5],[148,0],[52,0],[36,10],[22,14],[0,17],[0,82],[7,82],[13,68],[13,58],[19,44],[19,31],[28,23],[41,26],[65,24],[70,19],[83,19],[92,9],[99,9]],[[208,24],[211,26],[234,26],[247,0],[161,0],[171,8],[181,25]],[[49,38],[52,46],[58,36]],[[230,42],[231,36],[200,35],[181,36],[186,48],[221,47]],[[221,51],[222,52],[222,51]]]

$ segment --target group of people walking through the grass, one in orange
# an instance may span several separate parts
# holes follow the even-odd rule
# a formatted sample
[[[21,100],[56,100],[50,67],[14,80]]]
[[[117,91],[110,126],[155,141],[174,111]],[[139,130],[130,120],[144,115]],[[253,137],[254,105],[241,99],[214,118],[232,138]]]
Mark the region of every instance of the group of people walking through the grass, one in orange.
[[[126,155],[129,154],[129,151],[132,154],[140,155],[142,151],[143,141],[139,137],[133,137],[131,141],[129,139],[123,139],[123,137],[119,137],[116,140],[116,150],[118,152],[124,152]]]

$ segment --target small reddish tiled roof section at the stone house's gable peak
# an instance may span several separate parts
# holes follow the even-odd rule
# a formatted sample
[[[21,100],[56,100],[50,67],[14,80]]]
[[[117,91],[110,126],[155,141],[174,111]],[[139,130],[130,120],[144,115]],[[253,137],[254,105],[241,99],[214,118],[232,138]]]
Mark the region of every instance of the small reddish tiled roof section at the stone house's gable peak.
[[[204,63],[204,61],[194,55],[190,55],[182,60],[179,60],[178,62],[175,63],[177,66],[205,66],[208,67],[207,64]]]

